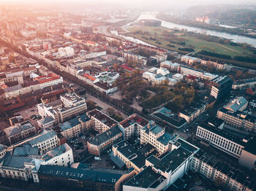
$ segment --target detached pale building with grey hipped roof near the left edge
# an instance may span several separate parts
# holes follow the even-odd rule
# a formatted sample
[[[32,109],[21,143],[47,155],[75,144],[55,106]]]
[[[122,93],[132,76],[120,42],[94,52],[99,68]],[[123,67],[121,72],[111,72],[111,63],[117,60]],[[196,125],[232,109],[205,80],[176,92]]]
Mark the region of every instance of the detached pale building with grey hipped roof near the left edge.
[[[10,144],[15,144],[18,141],[34,136],[37,130],[34,125],[28,120],[25,122],[16,123],[10,128],[5,128],[4,133],[7,135],[7,139]]]

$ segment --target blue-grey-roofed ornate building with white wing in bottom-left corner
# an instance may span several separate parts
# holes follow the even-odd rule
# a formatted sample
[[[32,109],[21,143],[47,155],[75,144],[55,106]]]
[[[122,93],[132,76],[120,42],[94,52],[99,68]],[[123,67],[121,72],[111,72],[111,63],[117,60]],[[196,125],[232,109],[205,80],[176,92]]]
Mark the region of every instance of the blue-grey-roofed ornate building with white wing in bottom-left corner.
[[[11,152],[6,153],[2,157],[0,176],[3,178],[39,182],[37,174],[39,166],[46,164],[69,165],[73,163],[72,156],[72,149],[67,144],[56,147],[45,153],[45,155],[38,155],[37,147],[23,144],[13,148]]]

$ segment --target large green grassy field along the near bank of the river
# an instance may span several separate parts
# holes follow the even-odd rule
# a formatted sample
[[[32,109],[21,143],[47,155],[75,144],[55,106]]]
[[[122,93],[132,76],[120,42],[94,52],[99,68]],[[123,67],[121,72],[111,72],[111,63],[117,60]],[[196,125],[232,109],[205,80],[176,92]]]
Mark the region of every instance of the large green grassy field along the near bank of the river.
[[[143,33],[135,34],[135,32],[139,30]],[[185,32],[176,33],[175,31],[169,28],[132,26],[132,28],[129,28],[128,31],[130,32],[126,34],[127,36],[132,36],[137,39],[141,39],[144,42],[147,42],[148,44],[164,47],[167,50],[178,51],[179,47],[192,47],[195,51],[206,50],[218,54],[230,55],[231,57],[236,55],[252,55],[252,52],[249,52],[249,50],[245,50],[242,47],[236,47],[230,44],[220,44],[217,42],[208,42],[206,40],[196,38],[195,36],[189,36]],[[164,33],[173,34],[173,38],[165,36]],[[185,42],[186,44],[182,46],[180,44],[172,42]],[[175,47],[167,46],[167,44],[171,44]],[[181,51],[179,50],[178,52]]]

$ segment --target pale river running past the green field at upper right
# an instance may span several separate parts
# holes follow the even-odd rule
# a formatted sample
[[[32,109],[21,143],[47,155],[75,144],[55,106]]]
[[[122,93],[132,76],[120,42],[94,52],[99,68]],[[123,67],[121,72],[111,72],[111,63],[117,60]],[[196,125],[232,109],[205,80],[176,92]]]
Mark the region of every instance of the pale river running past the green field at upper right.
[[[142,12],[142,13],[140,13],[140,17],[138,18],[138,20],[140,20],[140,19],[157,19],[157,12]],[[157,20],[159,20],[159,19],[157,19]],[[211,36],[218,36],[218,37],[225,38],[225,39],[231,39],[233,42],[247,43],[247,44],[251,44],[252,46],[256,47],[256,39],[253,39],[253,38],[250,38],[247,36],[229,34],[229,33],[224,33],[224,32],[219,32],[219,31],[206,30],[203,28],[197,28],[197,27],[191,27],[191,26],[178,25],[175,23],[167,22],[165,20],[161,20],[161,21],[162,21],[161,26],[165,27],[165,28],[186,29],[187,31],[193,31],[193,32],[197,32],[200,34],[208,34]]]

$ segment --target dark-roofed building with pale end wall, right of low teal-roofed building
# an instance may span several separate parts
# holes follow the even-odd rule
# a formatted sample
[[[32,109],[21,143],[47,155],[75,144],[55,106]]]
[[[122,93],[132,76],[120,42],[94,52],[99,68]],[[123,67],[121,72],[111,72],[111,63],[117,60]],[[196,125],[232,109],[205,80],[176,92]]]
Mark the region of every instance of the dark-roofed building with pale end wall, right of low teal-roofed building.
[[[178,117],[183,117],[187,122],[192,122],[195,120],[200,114],[206,111],[206,102],[197,101],[190,106],[187,106],[186,109],[182,110],[178,113]]]

